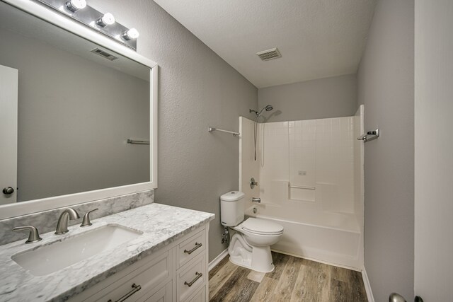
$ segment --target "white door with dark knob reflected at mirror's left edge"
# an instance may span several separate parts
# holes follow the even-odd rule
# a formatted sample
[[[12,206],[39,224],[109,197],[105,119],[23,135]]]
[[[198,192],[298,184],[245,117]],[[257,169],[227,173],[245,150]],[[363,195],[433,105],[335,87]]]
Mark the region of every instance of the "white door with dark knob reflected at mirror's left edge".
[[[18,70],[0,65],[0,205],[16,202]]]

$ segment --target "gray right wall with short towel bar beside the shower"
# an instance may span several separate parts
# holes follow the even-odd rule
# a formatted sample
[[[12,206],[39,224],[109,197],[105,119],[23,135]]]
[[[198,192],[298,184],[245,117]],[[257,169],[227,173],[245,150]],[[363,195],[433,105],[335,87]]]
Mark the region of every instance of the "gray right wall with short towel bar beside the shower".
[[[365,130],[365,268],[376,301],[413,301],[414,3],[377,4],[357,73]]]

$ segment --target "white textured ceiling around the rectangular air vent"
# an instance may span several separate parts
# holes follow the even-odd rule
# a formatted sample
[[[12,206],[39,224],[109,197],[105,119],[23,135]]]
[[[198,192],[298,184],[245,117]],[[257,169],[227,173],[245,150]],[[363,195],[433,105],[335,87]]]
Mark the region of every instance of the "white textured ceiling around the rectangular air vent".
[[[376,0],[154,0],[256,87],[355,74]],[[256,52],[278,47],[282,58]]]

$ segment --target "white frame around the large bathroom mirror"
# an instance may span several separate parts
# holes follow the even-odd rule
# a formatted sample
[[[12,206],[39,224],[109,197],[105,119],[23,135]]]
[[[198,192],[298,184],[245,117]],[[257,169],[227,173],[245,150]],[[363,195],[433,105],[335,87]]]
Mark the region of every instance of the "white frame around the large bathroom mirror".
[[[49,209],[57,209],[60,207],[68,207],[73,204],[81,204],[84,202],[91,202],[93,200],[105,199],[109,197],[116,197],[124,194],[132,194],[134,192],[141,192],[157,187],[157,97],[158,97],[158,68],[159,66],[147,59],[146,57],[137,54],[120,43],[111,40],[109,37],[96,33],[94,30],[81,25],[76,21],[71,20],[65,16],[59,15],[54,11],[30,0],[0,0],[7,4],[11,4],[21,11],[30,13],[48,23],[56,25],[59,28],[84,37],[86,40],[94,42],[102,47],[107,48],[118,54],[122,54],[135,62],[149,66],[150,71],[150,181],[141,182],[133,185],[123,185],[120,187],[109,187],[102,190],[93,190],[87,192],[80,192],[75,194],[67,194],[56,197],[49,197],[43,199],[30,200],[28,202],[18,202],[15,204],[6,204],[0,207],[0,219],[7,219],[11,217],[31,214],[38,211],[46,211]]]

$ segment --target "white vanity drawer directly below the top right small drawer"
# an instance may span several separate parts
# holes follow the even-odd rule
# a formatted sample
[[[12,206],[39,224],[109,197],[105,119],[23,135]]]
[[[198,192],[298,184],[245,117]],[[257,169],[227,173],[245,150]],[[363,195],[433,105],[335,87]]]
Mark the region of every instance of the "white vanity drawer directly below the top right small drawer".
[[[203,252],[176,274],[177,301],[188,301],[188,298],[198,291],[200,286],[205,285],[207,280],[205,257]]]

